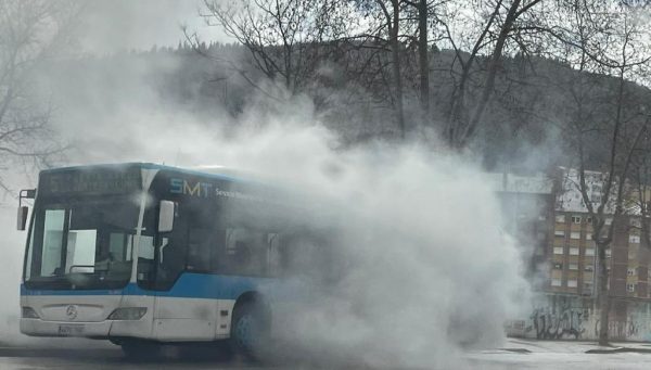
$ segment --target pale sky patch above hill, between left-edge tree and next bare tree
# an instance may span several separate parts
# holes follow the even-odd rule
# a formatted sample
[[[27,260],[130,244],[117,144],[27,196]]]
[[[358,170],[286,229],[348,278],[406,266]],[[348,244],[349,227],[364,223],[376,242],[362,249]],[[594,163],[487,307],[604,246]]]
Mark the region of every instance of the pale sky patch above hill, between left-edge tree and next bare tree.
[[[184,39],[181,26],[202,40],[228,42],[217,27],[200,16],[203,0],[86,0],[78,37],[84,51],[107,54],[152,46],[176,47]]]

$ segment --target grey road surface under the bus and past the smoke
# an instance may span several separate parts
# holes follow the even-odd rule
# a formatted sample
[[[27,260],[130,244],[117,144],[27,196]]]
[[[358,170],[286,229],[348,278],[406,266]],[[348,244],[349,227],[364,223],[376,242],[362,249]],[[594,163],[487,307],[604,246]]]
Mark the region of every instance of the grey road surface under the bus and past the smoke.
[[[89,344],[90,343],[90,344]],[[118,347],[93,342],[69,342],[52,347],[21,344],[0,346],[0,369],[358,369],[359,365],[332,366],[331,363],[285,362],[259,365],[241,359],[215,357],[188,357],[178,348],[168,348],[163,358],[153,361],[131,361],[123,357]],[[642,348],[644,345],[635,345]],[[510,340],[502,349],[467,352],[446,369],[651,369],[651,353],[586,354],[593,349],[590,343],[535,342]],[[643,349],[650,349],[651,346]]]

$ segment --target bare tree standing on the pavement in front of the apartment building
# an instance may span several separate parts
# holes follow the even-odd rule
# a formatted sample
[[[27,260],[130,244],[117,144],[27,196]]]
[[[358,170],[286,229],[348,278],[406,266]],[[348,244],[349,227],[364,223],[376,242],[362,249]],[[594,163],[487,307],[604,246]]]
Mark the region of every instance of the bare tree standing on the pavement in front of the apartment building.
[[[572,135],[577,151],[578,171],[576,189],[580,192],[592,226],[592,240],[598,251],[598,298],[600,307],[599,343],[609,341],[609,271],[607,250],[613,242],[615,229],[622,227],[621,216],[629,212],[629,183],[636,174],[636,155],[643,138],[649,136],[650,122],[643,116],[642,102],[636,101],[636,90],[631,82],[640,75],[640,68],[648,66],[651,51],[647,40],[651,36],[648,27],[636,18],[636,10],[626,4],[604,4],[600,1],[576,0],[561,3],[571,16],[551,26],[547,31],[567,48],[566,62],[578,67],[579,72],[610,75],[602,77],[603,95],[596,100],[595,94],[586,97],[584,91],[574,90],[575,114],[571,119],[569,133]],[[582,78],[593,76],[582,75]],[[614,84],[611,84],[614,80]],[[575,88],[582,89],[585,84]],[[599,112],[586,110],[586,98]],[[599,175],[588,171],[587,149],[596,137],[608,143],[607,157],[598,169]],[[599,187],[599,191],[595,191]],[[596,195],[598,193],[598,195]],[[612,219],[612,222],[607,220]]]

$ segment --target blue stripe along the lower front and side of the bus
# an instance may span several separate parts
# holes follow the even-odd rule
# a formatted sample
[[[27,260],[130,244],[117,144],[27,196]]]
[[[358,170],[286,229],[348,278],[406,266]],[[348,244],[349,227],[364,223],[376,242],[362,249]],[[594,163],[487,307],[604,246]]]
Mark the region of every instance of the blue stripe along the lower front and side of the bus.
[[[30,290],[21,284],[21,295],[157,295],[166,297],[237,299],[247,291],[273,290],[275,279],[224,275],[183,273],[169,291],[144,290],[135,283],[117,290]]]

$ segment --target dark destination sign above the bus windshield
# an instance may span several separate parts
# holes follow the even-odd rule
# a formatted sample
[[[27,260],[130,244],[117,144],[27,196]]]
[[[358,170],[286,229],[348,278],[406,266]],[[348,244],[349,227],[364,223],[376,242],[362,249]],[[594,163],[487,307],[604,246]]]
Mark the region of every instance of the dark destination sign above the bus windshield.
[[[40,194],[122,194],[142,188],[140,168],[93,168],[43,173]]]

